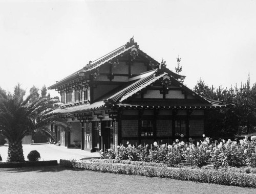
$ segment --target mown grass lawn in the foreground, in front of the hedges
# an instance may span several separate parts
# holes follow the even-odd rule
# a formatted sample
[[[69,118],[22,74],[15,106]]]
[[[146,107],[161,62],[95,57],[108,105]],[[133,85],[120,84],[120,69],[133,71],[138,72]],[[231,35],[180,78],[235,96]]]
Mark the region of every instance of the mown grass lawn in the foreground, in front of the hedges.
[[[1,193],[256,193],[256,189],[61,166],[2,168]]]

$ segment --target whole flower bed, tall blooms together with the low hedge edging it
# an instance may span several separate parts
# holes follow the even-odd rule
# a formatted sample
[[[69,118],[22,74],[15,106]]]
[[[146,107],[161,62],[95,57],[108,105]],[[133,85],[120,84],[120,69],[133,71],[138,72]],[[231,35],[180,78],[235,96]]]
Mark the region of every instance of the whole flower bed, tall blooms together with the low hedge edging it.
[[[256,136],[237,141],[179,141],[101,151],[101,159],[60,160],[60,165],[92,171],[164,177],[256,188]]]

